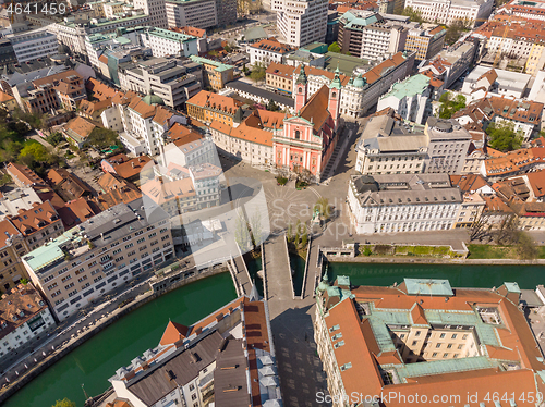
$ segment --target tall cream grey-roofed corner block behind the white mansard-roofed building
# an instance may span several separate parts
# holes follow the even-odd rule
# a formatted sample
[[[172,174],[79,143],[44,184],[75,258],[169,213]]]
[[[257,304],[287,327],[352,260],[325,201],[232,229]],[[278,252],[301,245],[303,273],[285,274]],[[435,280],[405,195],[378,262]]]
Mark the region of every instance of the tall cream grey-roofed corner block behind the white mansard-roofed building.
[[[461,174],[471,134],[456,120],[428,118],[424,134],[429,139],[425,172]]]

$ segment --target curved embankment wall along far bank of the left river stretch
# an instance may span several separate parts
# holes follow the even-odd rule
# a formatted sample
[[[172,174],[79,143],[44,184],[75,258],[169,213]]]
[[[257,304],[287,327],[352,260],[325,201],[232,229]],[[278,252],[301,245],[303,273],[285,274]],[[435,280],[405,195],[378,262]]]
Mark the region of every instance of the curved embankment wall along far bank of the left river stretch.
[[[123,308],[118,308],[114,313],[109,316],[108,318],[100,320],[97,322],[95,325],[93,325],[92,329],[88,331],[85,331],[85,333],[81,334],[78,337],[70,340],[70,342],[62,347],[59,347],[56,349],[51,355],[46,357],[43,361],[34,366],[32,369],[26,371],[24,374],[21,375],[21,379],[19,379],[16,382],[12,382],[11,385],[8,387],[4,387],[0,391],[0,406],[8,399],[10,398],[13,394],[15,394],[17,391],[23,388],[26,384],[28,384],[32,380],[37,378],[39,374],[45,372],[48,368],[53,366],[57,361],[62,359],[64,356],[70,354],[72,350],[77,348],[80,345],[82,345],[84,342],[90,340],[93,336],[101,332],[104,329],[108,328],[111,325],[113,322],[118,321],[120,318],[123,318],[128,313],[132,312],[136,308],[140,308],[144,306],[145,304],[153,301],[154,299],[160,297],[161,295],[165,295],[167,293],[170,293],[171,291],[174,291],[177,288],[180,288],[184,285],[191,284],[195,281],[206,279],[219,273],[227,272],[228,269],[227,267],[221,267],[221,268],[210,268],[210,269],[203,269],[203,270],[197,270],[195,269],[195,274],[175,282],[172,285],[169,285],[168,287],[165,287],[160,291],[154,292],[153,289],[144,293],[140,297],[136,297],[136,299],[131,303],[130,305],[126,305]],[[39,351],[37,349],[36,351]]]

